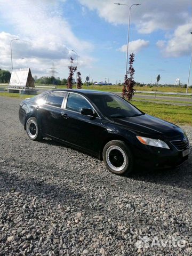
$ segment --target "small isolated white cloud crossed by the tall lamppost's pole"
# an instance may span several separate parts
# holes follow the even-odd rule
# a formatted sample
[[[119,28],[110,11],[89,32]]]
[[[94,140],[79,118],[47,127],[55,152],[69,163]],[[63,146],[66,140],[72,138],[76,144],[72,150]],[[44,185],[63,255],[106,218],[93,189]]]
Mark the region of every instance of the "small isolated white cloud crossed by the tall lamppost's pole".
[[[138,39],[135,41],[129,42],[129,52],[130,53],[138,53],[143,48],[147,47],[149,45],[149,41],[145,41],[143,39]],[[127,44],[122,45],[121,48],[118,49],[121,52],[127,51]]]

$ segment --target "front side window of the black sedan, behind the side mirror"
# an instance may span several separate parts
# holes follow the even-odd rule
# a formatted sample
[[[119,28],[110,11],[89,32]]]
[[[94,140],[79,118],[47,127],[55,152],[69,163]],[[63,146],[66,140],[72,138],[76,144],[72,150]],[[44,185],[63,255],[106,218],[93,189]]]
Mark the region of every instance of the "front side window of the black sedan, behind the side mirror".
[[[90,103],[82,95],[69,93],[66,109],[81,113],[82,108],[93,109]]]

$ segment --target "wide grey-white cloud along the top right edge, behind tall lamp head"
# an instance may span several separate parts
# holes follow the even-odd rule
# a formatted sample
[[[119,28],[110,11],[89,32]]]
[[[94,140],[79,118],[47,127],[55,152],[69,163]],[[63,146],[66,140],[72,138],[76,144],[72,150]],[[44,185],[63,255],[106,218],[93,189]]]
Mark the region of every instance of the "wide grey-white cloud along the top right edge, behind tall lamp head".
[[[101,18],[110,23],[127,24],[129,9],[126,6],[115,5],[111,0],[79,0],[90,10],[97,10]],[[131,6],[132,0],[121,0],[123,4]],[[131,9],[131,23],[139,33],[150,34],[155,30],[175,28],[190,19],[191,0],[139,0],[139,6]]]

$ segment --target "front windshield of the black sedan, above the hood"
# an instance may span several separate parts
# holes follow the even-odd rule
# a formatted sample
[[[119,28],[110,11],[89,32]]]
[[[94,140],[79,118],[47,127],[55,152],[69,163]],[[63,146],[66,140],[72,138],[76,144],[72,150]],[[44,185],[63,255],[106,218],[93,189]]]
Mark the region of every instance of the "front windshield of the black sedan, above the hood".
[[[90,94],[89,98],[107,117],[125,118],[143,115],[139,109],[117,95]]]

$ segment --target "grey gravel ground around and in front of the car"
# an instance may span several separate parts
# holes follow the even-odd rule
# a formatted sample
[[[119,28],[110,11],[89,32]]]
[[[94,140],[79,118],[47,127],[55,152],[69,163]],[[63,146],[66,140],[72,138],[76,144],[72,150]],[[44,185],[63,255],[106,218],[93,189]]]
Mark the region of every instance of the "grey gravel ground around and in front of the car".
[[[0,255],[192,255],[191,154],[175,170],[119,177],[59,143],[30,141],[19,102],[0,97]]]

